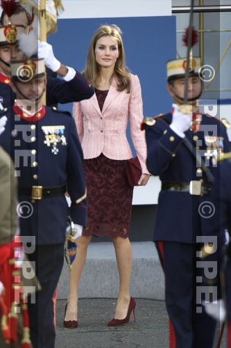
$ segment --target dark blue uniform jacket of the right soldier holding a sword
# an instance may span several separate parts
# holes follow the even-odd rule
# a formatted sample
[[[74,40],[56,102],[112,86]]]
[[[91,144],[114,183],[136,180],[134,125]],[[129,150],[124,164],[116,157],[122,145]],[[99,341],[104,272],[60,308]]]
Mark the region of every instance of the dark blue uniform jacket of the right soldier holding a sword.
[[[183,139],[169,127],[171,120],[172,115],[168,113],[149,122],[144,121],[148,171],[159,175],[162,184],[182,184],[203,179],[204,184],[209,186],[207,176],[198,168],[196,159],[183,143]],[[185,135],[198,153],[204,156],[207,148],[211,147],[208,136],[214,132],[218,139],[217,148],[228,152],[230,145],[225,126],[216,118],[203,115],[199,131],[192,132],[189,129]],[[211,159],[203,157],[203,160],[212,168]],[[162,190],[158,200],[154,240],[195,243],[196,235],[201,233],[198,206],[202,201],[203,197],[192,196],[187,192]]]

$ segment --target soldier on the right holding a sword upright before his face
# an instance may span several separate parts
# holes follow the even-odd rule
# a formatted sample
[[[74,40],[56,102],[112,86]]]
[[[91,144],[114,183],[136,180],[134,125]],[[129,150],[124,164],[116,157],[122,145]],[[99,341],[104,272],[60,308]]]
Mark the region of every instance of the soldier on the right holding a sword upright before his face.
[[[196,110],[202,90],[200,58],[190,57],[188,105],[182,105],[186,65],[185,58],[167,63],[167,89],[173,97],[173,110],[144,119],[142,127],[146,132],[148,171],[162,181],[154,241],[165,274],[170,347],[209,348],[215,321],[201,306],[204,294],[197,276],[203,274],[203,269],[196,267],[202,235],[200,203],[211,188],[213,161],[217,153],[228,151],[229,143],[223,123]],[[193,114],[190,109],[194,109]]]

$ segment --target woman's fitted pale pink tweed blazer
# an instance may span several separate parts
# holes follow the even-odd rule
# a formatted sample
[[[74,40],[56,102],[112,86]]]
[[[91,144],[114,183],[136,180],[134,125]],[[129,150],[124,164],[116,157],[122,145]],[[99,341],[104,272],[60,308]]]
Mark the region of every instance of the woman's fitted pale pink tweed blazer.
[[[110,159],[132,158],[126,137],[130,117],[132,143],[142,166],[142,173],[148,173],[145,134],[140,129],[144,117],[142,90],[137,75],[130,74],[130,79],[130,93],[126,93],[126,90],[118,92],[116,80],[112,80],[102,112],[94,94],[88,100],[74,103],[73,116],[85,159],[98,157],[102,152]]]

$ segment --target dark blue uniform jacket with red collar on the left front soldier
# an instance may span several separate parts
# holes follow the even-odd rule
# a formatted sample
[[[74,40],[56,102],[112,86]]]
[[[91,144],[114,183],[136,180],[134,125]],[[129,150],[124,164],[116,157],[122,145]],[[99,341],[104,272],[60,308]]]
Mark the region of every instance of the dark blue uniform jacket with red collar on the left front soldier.
[[[20,234],[35,236],[36,244],[60,244],[65,241],[68,214],[74,223],[86,226],[83,152],[71,115],[43,108],[33,120],[20,118],[13,109],[7,114],[1,112],[0,117],[6,114],[8,122],[0,142],[15,161],[21,203],[17,212],[22,216]],[[41,200],[32,200],[31,193],[20,193],[20,188],[65,184],[72,202],[70,212],[64,193]]]

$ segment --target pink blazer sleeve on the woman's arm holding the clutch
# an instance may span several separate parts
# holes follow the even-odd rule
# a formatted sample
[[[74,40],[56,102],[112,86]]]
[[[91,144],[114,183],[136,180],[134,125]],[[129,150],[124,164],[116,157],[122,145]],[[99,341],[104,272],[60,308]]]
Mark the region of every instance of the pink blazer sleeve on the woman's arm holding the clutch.
[[[148,174],[148,168],[146,167],[146,140],[145,134],[141,130],[144,118],[142,90],[137,75],[132,78],[128,112],[130,116],[130,134],[132,137],[132,143],[135,146],[137,157],[142,166],[142,173]]]

